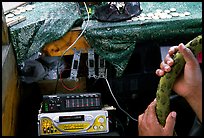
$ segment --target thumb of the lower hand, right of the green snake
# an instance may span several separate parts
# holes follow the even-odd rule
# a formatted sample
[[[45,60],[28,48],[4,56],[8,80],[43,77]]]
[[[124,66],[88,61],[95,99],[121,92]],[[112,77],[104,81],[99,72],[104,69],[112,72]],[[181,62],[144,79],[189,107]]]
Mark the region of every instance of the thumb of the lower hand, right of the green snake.
[[[176,112],[173,111],[167,116],[166,125],[164,126],[164,129],[167,132],[170,132],[171,134],[173,134],[175,123],[176,123]]]

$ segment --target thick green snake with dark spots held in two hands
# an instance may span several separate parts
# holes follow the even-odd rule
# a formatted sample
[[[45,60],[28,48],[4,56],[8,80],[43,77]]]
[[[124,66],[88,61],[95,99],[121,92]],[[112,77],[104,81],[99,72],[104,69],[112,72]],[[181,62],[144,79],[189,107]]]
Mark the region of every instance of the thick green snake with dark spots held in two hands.
[[[185,46],[196,56],[202,51],[202,35],[197,36]],[[158,121],[162,126],[165,125],[166,118],[170,113],[170,94],[174,82],[185,65],[185,60],[180,52],[175,53],[173,60],[174,65],[171,67],[171,71],[165,73],[165,75],[160,78],[156,92],[156,114]]]

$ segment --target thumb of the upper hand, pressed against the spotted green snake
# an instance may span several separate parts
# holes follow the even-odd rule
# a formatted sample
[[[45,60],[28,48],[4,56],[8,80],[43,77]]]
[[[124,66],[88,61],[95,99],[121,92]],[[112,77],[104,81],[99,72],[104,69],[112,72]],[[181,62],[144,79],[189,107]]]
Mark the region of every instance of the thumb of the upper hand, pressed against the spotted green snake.
[[[187,48],[183,43],[178,45],[179,52],[183,55],[184,60],[186,63],[194,64],[195,63],[195,56],[193,55],[192,51]]]

